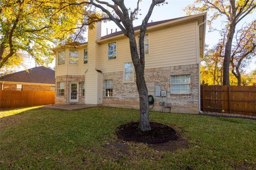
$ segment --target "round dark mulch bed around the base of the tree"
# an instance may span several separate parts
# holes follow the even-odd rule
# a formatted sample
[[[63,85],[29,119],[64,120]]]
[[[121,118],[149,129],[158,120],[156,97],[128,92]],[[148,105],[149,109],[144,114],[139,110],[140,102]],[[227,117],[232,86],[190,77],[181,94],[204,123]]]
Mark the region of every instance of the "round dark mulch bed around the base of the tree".
[[[125,141],[135,141],[148,144],[164,143],[170,140],[177,140],[177,132],[171,127],[150,122],[151,130],[142,132],[139,129],[139,122],[126,123],[116,130],[117,137]]]

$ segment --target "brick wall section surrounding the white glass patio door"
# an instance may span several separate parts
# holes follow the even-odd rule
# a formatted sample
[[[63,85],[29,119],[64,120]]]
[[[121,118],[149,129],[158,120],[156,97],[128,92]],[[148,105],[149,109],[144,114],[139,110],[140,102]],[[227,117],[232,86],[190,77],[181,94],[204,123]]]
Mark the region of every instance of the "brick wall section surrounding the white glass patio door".
[[[70,82],[80,82],[78,83],[78,103],[84,104],[84,96],[82,96],[82,81],[85,80],[84,75],[61,75],[55,77],[55,104],[67,104],[70,97]],[[58,84],[57,82],[65,82],[65,95],[58,96]]]

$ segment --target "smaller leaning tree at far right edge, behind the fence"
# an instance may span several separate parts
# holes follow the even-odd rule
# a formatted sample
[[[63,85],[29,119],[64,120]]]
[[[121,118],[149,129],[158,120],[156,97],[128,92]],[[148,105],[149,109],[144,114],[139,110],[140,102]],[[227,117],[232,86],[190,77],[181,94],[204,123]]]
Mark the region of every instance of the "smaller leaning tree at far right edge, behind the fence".
[[[237,31],[235,43],[231,51],[231,72],[241,86],[241,71],[249,65],[252,58],[256,58],[256,21]]]

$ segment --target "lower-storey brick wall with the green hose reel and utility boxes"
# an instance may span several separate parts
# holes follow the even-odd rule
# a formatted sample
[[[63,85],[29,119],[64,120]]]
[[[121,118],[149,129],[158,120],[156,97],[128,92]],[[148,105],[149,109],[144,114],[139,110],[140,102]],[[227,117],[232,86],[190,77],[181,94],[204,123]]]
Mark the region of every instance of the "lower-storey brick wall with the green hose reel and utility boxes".
[[[171,75],[190,74],[191,93],[171,94]],[[103,97],[103,106],[139,108],[139,94],[136,83],[124,83],[123,72],[103,73],[103,94],[104,80],[112,79],[114,83],[113,97]],[[134,78],[135,79],[135,78]],[[176,113],[198,113],[198,64],[171,66],[157,69],[146,69],[145,79],[148,94],[155,99],[154,111],[162,111],[159,105],[163,97],[155,97],[155,86],[160,85],[162,90],[167,91],[167,103],[171,103],[171,112]],[[169,112],[168,108],[165,108]]]

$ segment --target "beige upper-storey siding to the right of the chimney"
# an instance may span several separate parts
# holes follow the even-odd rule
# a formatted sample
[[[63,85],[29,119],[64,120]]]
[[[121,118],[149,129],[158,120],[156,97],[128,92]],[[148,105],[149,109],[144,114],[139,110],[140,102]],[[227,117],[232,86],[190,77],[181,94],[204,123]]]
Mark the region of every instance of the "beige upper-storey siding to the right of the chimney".
[[[148,31],[149,54],[145,55],[145,69],[196,64],[196,21]],[[138,42],[138,36],[137,42]],[[129,39],[120,38],[116,60],[107,60],[108,43],[100,45],[102,72],[123,71],[123,64],[131,62]]]

